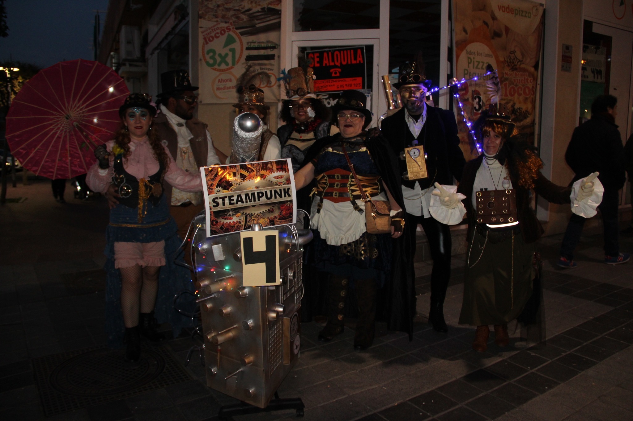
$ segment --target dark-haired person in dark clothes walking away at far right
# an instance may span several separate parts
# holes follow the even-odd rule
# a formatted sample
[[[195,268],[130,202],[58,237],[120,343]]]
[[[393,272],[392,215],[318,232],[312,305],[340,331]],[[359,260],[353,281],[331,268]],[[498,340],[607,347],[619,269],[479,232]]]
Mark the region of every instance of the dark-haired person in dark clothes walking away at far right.
[[[602,203],[598,206],[605,230],[605,263],[629,261],[630,254],[620,252],[618,244],[618,191],[624,186],[625,155],[620,131],[615,124],[618,99],[613,95],[599,95],[591,104],[591,119],[576,127],[565,152],[565,161],[575,173],[572,182],[587,174],[599,172],[598,179],[605,187]],[[572,215],[560,247],[558,266],[575,268],[573,251],[578,245],[585,218]]]

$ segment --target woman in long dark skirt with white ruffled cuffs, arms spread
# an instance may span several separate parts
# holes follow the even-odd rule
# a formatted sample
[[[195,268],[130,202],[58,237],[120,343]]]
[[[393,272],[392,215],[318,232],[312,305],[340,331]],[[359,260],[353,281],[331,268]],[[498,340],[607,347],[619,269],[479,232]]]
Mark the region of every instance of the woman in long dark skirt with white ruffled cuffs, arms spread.
[[[496,345],[505,347],[510,341],[508,322],[541,321],[536,241],[544,230],[530,208],[530,192],[551,203],[571,203],[574,213],[588,216],[595,215],[602,186],[594,181],[596,173],[573,187],[546,179],[536,148],[518,135],[504,114],[484,112],[473,128],[484,153],[466,164],[457,193],[436,184],[431,213],[440,219],[447,209],[444,216],[456,211],[463,215],[459,201],[465,198],[468,250],[459,323],[477,326],[472,347],[484,352],[489,325],[494,326]]]

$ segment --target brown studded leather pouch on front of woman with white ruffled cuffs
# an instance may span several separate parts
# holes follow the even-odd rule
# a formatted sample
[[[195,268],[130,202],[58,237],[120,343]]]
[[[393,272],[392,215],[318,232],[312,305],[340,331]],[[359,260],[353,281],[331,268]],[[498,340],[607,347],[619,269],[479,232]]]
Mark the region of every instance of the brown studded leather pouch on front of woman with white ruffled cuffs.
[[[517,222],[517,193],[514,189],[475,192],[477,223],[503,225]]]

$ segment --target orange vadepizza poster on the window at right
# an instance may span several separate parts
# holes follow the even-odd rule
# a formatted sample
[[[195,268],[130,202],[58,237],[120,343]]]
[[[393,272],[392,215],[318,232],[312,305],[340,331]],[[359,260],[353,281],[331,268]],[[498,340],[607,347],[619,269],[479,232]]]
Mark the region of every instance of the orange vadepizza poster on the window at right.
[[[454,75],[468,80],[497,69],[500,111],[511,116],[520,133],[534,143],[534,111],[543,32],[542,4],[530,0],[453,0]],[[458,91],[470,122],[491,104],[486,78],[468,81]],[[456,112],[458,104],[455,104]],[[466,158],[477,149],[458,116],[460,146]],[[480,141],[480,139],[478,139]]]

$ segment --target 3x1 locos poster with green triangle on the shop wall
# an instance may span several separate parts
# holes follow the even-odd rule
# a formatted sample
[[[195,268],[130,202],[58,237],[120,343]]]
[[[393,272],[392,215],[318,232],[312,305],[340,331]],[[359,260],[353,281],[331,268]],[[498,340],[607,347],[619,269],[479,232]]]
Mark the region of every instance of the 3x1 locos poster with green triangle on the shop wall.
[[[199,0],[199,100],[234,104],[237,85],[280,98],[281,0]]]

